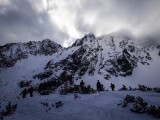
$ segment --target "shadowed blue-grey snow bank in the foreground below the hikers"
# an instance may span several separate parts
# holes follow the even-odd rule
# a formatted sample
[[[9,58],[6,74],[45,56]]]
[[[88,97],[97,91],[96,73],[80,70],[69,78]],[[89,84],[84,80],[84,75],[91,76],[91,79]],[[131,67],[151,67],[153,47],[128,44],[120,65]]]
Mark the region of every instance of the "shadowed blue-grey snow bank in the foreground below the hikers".
[[[141,96],[152,105],[160,105],[160,94],[141,91],[104,91],[95,94],[79,94],[75,99],[73,94],[48,96],[34,95],[16,102],[16,113],[5,117],[5,120],[153,120],[147,114],[135,114],[129,108],[122,108],[120,103],[126,95]],[[63,105],[55,107],[55,102],[61,100]],[[47,103],[44,105],[42,103]]]

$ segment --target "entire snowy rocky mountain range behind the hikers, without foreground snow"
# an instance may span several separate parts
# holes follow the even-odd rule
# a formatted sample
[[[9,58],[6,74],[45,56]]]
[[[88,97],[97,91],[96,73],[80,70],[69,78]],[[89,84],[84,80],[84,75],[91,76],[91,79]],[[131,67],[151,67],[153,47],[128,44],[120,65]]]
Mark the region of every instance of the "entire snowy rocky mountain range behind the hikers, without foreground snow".
[[[143,47],[135,44],[135,38],[127,32],[99,37],[90,33],[68,48],[49,39],[6,44],[0,47],[0,68],[4,76],[7,70],[3,68],[11,67],[17,72],[18,69],[27,68],[27,79],[38,80],[38,83],[41,83],[39,80],[60,80],[61,75],[67,73],[75,84],[84,80],[94,88],[97,80],[107,88],[111,82],[117,83],[117,87],[123,84],[155,86],[159,78],[159,51],[159,45]],[[22,71],[19,72],[22,74]],[[156,82],[150,83],[151,80]]]

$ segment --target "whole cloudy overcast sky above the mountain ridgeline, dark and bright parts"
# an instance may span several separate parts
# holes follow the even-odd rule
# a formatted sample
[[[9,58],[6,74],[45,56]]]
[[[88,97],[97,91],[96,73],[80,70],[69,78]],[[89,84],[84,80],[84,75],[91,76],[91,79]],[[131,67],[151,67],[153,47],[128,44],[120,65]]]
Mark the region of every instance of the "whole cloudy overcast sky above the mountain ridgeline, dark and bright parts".
[[[68,46],[121,29],[159,36],[160,0],[0,0],[0,45],[50,38]]]

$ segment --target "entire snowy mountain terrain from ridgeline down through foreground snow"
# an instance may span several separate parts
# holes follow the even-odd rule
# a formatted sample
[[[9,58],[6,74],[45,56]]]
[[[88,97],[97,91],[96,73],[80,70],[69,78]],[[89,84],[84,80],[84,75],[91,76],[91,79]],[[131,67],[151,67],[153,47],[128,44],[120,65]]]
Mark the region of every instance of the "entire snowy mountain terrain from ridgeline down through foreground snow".
[[[159,106],[159,93],[117,90],[122,85],[127,88],[135,88],[139,84],[160,87],[159,46],[138,45],[128,33],[100,37],[88,34],[68,48],[62,48],[48,39],[1,46],[0,91],[3,92],[0,92],[0,112],[12,101],[18,107],[15,114],[4,117],[6,120],[152,120],[153,116],[134,114],[127,108],[117,107],[117,104],[131,94],[142,96],[149,105]],[[95,90],[99,80],[106,91],[78,93],[76,99],[73,94],[60,95],[68,80],[76,85],[83,80],[85,86],[90,85]],[[115,84],[116,91],[110,90],[110,83]],[[22,99],[20,93],[30,86],[34,87],[34,96],[27,95]],[[41,96],[46,92],[53,94]],[[56,108],[55,103],[59,100],[64,105]]]

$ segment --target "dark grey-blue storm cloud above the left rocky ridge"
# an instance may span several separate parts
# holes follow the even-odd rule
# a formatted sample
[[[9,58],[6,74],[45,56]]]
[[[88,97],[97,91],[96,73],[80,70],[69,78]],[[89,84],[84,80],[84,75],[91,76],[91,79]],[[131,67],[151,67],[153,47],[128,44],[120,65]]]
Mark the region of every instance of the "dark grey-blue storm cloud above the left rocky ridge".
[[[0,3],[0,45],[45,38],[63,44],[63,39],[68,38],[51,22],[47,11],[38,11],[34,4],[27,0],[12,0],[5,5]]]

